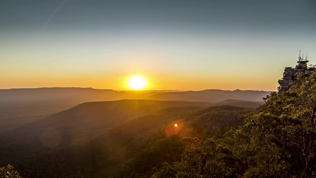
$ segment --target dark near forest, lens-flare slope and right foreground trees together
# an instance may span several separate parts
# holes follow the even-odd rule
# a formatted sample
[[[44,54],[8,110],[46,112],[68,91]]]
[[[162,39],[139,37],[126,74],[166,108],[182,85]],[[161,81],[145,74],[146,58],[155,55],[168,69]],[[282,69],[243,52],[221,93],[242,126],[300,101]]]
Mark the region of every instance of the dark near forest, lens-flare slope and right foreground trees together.
[[[10,171],[25,178],[314,178],[316,74],[263,100],[257,109],[163,108],[82,144],[14,157]]]

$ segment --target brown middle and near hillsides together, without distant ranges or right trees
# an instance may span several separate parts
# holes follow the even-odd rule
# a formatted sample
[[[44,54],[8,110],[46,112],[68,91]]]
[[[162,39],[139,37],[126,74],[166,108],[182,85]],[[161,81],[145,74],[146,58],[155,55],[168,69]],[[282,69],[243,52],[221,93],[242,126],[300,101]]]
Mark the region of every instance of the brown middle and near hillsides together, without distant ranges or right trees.
[[[1,165],[15,165],[26,178],[150,177],[152,168],[180,159],[184,150],[181,137],[222,137],[231,127],[240,125],[246,113],[255,111],[235,106],[207,108],[207,104],[148,100],[84,103],[0,134],[0,151],[6,153],[0,159]],[[106,113],[111,117],[102,119]],[[122,113],[139,116],[113,124],[115,118],[124,117]],[[86,126],[79,124],[82,122]],[[79,133],[101,126],[112,128],[93,135]],[[69,142],[74,139],[76,144]]]

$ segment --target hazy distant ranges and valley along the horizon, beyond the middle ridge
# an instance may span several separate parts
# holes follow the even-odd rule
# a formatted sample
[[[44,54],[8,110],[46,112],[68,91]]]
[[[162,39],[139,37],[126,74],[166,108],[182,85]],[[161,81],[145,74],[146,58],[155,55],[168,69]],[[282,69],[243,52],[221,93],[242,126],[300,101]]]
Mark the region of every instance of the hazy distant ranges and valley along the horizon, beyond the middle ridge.
[[[0,89],[0,121],[14,117],[52,114],[91,101],[120,99],[182,100],[213,103],[226,99],[262,101],[262,97],[269,93],[270,91],[229,91],[220,89],[202,91],[115,91],[91,88]],[[234,105],[236,104],[235,102]],[[255,105],[248,106],[256,107]]]

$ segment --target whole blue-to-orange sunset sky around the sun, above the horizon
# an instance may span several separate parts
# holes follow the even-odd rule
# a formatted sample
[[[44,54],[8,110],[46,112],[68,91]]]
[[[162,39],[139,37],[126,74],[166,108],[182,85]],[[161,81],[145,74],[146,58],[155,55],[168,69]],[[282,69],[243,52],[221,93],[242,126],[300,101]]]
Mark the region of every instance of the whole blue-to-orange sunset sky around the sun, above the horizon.
[[[315,0],[0,0],[0,89],[277,90]]]

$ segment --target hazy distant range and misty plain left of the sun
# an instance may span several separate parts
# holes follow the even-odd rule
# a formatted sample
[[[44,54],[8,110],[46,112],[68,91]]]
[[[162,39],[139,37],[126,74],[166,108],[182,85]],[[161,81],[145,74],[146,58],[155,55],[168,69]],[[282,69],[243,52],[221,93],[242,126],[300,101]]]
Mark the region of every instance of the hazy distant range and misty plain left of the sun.
[[[113,101],[132,97],[130,93],[112,89],[0,89],[0,121],[12,117],[52,114],[83,102]]]

